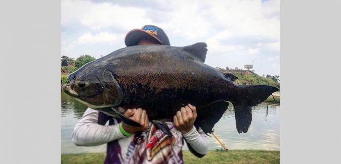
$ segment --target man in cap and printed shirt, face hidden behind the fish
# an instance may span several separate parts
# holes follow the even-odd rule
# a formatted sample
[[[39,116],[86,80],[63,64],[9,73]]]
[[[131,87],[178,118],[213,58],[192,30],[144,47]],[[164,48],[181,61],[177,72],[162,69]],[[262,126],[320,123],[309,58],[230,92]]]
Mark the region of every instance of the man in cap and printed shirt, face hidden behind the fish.
[[[125,37],[126,46],[145,44],[170,45],[164,31],[153,25],[134,29]],[[119,118],[88,108],[74,127],[72,141],[77,146],[107,143],[105,163],[183,163],[183,139],[197,157],[203,157],[208,151],[208,139],[194,124],[197,113],[191,104],[179,109],[174,122],[166,122],[172,134],[165,134],[149,122],[142,108],[129,109],[124,116],[141,126],[127,125]]]

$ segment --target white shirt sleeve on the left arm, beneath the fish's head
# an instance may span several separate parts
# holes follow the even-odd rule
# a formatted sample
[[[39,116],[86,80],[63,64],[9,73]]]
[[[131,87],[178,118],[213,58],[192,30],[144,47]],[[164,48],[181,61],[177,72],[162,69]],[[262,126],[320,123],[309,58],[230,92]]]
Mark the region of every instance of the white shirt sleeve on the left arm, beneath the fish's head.
[[[72,142],[77,146],[98,146],[124,137],[119,124],[105,126],[98,124],[98,111],[88,108],[75,125]]]

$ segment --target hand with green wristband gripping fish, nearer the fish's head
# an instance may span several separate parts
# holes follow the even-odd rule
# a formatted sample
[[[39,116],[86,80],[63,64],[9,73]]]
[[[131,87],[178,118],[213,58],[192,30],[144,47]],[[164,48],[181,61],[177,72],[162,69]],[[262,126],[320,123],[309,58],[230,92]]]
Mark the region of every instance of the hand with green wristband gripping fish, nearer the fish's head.
[[[140,132],[149,128],[148,115],[145,110],[142,110],[141,108],[138,108],[137,110],[129,109],[129,110],[126,110],[123,115],[127,118],[134,120],[135,122],[141,125],[140,127],[135,127],[135,126],[126,125],[122,122],[122,128],[126,132],[130,134],[134,134],[136,132]]]

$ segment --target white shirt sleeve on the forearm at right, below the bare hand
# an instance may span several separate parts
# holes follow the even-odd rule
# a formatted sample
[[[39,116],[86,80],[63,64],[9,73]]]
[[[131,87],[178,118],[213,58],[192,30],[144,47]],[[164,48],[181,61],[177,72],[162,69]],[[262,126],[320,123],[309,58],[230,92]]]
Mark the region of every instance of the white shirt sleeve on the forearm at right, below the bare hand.
[[[193,126],[192,130],[183,135],[187,142],[188,148],[190,150],[193,149],[196,151],[196,153],[194,152],[194,155],[202,157],[207,153],[209,147],[208,139],[200,127],[198,130],[196,130],[196,128]]]

